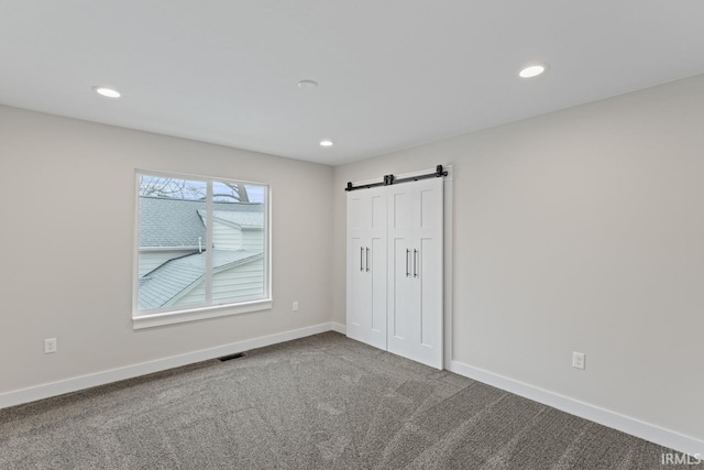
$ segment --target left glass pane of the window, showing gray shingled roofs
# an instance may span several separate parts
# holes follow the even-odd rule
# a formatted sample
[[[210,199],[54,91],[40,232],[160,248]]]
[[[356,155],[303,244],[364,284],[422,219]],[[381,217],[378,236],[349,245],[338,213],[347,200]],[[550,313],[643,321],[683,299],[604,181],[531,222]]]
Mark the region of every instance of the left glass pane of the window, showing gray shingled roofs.
[[[140,175],[139,309],[206,303],[207,184]]]

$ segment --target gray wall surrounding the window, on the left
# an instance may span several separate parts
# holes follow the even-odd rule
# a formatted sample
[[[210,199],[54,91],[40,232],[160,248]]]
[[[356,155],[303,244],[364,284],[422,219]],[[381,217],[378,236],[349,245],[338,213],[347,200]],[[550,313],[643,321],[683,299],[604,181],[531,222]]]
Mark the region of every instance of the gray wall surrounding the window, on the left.
[[[132,329],[135,167],[271,184],[272,310]],[[332,173],[0,107],[0,393],[329,321]]]

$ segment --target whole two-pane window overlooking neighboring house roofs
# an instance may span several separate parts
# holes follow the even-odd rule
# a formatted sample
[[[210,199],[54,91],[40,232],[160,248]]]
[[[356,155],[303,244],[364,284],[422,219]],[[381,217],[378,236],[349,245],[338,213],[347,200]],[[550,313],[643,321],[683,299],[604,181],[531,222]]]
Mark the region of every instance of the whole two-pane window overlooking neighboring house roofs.
[[[138,172],[136,193],[135,328],[271,308],[268,186]]]

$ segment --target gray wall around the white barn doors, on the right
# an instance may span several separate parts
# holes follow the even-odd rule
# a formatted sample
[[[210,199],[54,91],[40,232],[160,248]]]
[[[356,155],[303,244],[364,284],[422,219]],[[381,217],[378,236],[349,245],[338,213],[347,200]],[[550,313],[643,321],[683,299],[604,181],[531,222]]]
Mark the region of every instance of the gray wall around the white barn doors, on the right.
[[[704,438],[704,76],[337,167],[337,321],[345,182],[438,163],[453,359]]]

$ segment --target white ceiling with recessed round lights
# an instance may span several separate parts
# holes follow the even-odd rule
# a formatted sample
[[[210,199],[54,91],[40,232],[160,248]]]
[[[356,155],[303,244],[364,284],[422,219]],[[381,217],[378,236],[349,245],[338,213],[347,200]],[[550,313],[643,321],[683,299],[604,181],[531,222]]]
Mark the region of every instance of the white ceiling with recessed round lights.
[[[337,165],[702,74],[703,24],[702,0],[2,0],[0,102]]]

